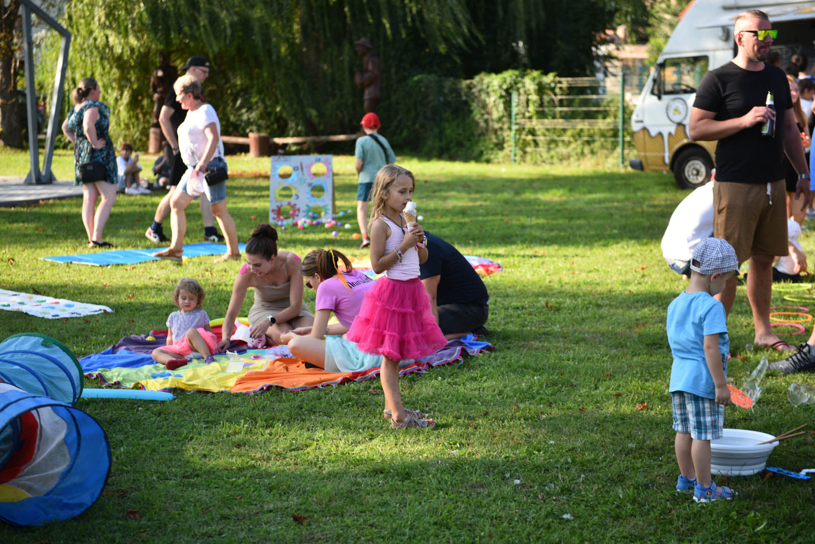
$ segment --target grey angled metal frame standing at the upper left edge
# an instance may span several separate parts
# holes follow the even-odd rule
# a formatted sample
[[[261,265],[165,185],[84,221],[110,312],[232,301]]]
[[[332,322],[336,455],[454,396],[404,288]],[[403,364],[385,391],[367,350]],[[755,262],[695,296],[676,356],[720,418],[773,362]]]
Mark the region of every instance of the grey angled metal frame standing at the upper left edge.
[[[31,170],[26,176],[25,182],[51,183],[55,181],[54,174],[51,173],[51,161],[54,158],[54,143],[56,131],[59,129],[59,112],[62,110],[63,88],[65,86],[65,69],[68,67],[68,50],[71,45],[71,33],[57,23],[51,15],[48,15],[41,7],[35,5],[31,0],[21,0],[23,5],[23,39],[25,42],[25,86],[26,100],[28,102],[29,116],[29,153],[31,159]],[[59,59],[57,60],[56,77],[54,81],[54,94],[51,97],[51,115],[48,117],[48,133],[46,134],[46,158],[42,165],[42,173],[39,169],[40,157],[39,146],[37,145],[37,93],[34,89],[34,61],[33,42],[31,36],[31,12],[42,19],[52,29],[55,29],[62,36],[62,44],[59,46]],[[32,130],[32,124],[34,129]],[[33,142],[32,145],[32,134]]]

